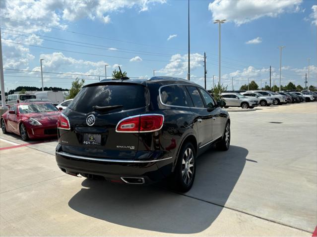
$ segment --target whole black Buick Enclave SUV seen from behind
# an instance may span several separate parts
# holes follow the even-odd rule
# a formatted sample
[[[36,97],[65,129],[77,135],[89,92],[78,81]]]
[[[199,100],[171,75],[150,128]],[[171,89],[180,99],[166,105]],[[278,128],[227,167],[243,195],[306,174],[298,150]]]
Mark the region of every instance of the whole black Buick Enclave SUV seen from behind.
[[[230,145],[230,118],[202,87],[173,77],[84,86],[58,121],[56,160],[74,176],[127,184],[171,178],[190,190],[196,157]]]

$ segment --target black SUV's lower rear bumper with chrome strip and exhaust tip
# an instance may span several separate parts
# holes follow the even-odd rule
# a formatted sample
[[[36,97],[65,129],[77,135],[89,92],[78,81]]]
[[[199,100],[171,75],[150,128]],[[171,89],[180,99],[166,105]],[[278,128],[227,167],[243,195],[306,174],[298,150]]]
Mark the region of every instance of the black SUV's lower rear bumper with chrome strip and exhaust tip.
[[[124,183],[122,177],[135,177],[144,179],[145,184],[167,177],[173,165],[172,157],[150,161],[113,160],[72,155],[61,150],[56,151],[56,161],[60,169],[70,175],[101,176],[116,183]]]

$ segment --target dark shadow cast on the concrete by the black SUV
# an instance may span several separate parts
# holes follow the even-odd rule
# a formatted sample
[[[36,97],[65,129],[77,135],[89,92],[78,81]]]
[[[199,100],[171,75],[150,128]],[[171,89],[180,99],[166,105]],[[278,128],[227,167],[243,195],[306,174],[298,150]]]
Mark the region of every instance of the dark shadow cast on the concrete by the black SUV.
[[[82,182],[68,202],[82,214],[114,224],[175,234],[207,229],[223,209],[246,163],[248,150],[230,146],[197,158],[196,177],[185,195],[155,186],[129,186],[102,180]],[[211,203],[216,205],[212,205]]]

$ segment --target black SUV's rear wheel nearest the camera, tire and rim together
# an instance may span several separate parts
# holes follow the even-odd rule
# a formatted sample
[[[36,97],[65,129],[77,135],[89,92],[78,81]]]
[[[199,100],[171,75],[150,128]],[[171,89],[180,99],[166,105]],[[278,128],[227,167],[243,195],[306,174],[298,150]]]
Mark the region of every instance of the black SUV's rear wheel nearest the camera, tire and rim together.
[[[180,192],[190,190],[196,174],[196,152],[192,143],[185,143],[178,155],[172,176],[173,189]]]

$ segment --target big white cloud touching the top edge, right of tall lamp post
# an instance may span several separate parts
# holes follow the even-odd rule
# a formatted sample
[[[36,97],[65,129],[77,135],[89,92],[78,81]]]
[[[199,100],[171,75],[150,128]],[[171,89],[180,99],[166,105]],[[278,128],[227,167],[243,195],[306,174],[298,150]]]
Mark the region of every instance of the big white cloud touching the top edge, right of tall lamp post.
[[[255,19],[300,11],[302,0],[214,0],[209,3],[213,20],[227,19],[242,25]]]

